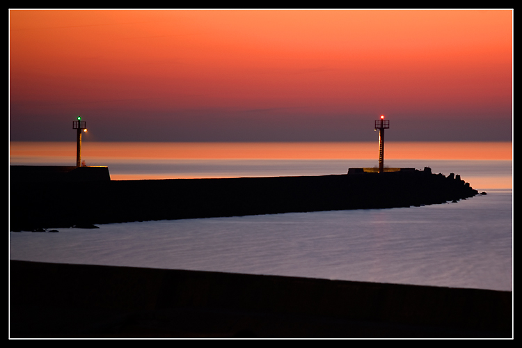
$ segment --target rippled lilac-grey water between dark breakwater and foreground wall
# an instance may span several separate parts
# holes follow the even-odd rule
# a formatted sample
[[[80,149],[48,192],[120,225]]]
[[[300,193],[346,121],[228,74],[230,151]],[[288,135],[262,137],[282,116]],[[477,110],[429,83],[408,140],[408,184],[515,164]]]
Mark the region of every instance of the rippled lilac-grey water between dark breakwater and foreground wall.
[[[457,203],[10,232],[10,258],[512,290],[512,190]]]

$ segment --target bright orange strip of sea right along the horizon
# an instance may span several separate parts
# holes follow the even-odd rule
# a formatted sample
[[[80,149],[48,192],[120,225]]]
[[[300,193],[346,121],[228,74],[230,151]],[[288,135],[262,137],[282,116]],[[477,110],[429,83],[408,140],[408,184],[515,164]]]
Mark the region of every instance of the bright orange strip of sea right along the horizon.
[[[74,162],[76,146],[68,142],[13,142],[16,164],[36,158],[63,157]],[[512,143],[388,142],[386,159],[503,160],[513,159]],[[84,143],[90,159],[376,159],[377,142],[357,143]]]

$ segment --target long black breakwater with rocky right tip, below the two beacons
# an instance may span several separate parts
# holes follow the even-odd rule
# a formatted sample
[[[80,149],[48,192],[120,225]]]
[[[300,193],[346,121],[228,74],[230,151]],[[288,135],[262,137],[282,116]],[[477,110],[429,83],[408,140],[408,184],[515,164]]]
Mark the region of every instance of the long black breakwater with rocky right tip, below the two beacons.
[[[445,203],[475,196],[425,171],[303,177],[13,182],[10,228],[244,216]]]

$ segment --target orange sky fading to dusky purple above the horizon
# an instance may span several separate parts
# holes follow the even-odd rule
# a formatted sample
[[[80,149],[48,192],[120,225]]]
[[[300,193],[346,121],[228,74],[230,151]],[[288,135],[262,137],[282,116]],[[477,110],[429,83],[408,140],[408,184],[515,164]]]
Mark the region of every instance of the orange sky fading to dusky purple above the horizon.
[[[10,10],[10,140],[512,141],[512,10]]]

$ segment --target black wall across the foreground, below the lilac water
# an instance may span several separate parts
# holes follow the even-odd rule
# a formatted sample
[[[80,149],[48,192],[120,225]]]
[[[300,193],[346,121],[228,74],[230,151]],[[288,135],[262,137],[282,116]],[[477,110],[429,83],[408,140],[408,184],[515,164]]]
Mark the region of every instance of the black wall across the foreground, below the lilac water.
[[[512,292],[10,261],[11,338],[511,338]]]

